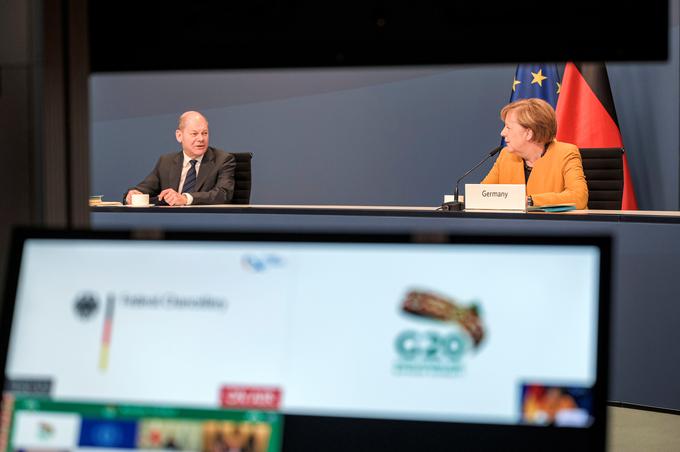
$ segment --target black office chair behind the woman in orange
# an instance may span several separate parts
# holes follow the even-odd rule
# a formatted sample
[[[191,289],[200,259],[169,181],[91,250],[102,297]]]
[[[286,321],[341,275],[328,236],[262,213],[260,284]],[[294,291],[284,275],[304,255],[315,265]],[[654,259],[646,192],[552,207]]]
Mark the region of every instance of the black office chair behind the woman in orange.
[[[620,210],[623,196],[623,149],[581,149],[588,184],[588,208]]]

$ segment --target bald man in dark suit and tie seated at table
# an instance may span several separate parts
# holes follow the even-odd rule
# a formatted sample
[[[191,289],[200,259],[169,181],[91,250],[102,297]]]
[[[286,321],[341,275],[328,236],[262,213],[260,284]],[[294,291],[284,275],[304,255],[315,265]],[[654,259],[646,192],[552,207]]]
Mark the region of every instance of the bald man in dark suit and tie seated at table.
[[[130,189],[125,202],[134,194],[158,196],[171,206],[192,204],[227,204],[234,195],[232,154],[208,146],[208,120],[197,111],[179,117],[175,138],[181,152],[162,155],[156,166],[136,187]]]

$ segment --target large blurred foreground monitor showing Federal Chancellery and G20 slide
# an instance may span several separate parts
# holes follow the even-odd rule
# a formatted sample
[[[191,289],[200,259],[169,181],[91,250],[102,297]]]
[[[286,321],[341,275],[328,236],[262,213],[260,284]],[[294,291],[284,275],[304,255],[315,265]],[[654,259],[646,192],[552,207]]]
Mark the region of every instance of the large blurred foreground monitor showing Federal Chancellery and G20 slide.
[[[18,249],[2,450],[585,450],[603,428],[597,243]]]

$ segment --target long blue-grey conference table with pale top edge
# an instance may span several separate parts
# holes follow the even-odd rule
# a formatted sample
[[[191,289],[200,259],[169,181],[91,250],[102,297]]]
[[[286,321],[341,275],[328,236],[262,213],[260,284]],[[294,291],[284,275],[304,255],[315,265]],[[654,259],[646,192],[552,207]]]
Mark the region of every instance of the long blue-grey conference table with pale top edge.
[[[611,235],[609,399],[680,410],[680,212],[441,212],[434,207],[299,205],[95,207],[91,224],[95,229]]]

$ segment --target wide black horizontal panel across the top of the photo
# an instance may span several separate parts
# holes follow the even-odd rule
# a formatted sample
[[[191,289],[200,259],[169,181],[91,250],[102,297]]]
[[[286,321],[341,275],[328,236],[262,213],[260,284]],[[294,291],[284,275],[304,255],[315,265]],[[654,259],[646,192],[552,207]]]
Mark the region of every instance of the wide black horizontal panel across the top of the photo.
[[[668,10],[667,0],[259,0],[179,8],[93,0],[89,61],[92,72],[665,61]]]

